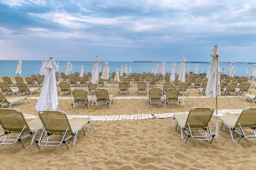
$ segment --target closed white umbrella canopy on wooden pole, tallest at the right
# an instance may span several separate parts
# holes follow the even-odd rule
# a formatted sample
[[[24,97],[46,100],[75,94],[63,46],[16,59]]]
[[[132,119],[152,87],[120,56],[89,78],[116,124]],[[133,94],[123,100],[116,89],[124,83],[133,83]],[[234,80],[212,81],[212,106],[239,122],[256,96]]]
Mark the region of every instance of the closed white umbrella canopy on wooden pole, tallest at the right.
[[[215,46],[212,49],[212,62],[210,68],[210,75],[207,82],[207,87],[205,91],[205,95],[208,97],[216,97],[220,96],[220,65],[219,65],[219,57],[220,52],[218,46]]]

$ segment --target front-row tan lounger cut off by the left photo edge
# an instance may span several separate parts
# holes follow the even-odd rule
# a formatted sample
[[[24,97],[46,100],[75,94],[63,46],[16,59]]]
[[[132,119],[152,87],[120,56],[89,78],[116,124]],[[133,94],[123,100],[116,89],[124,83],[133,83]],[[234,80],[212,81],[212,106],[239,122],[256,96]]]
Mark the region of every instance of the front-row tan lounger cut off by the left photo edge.
[[[17,141],[20,141],[24,148],[31,146],[34,142],[36,132],[43,128],[43,124],[40,119],[26,119],[22,111],[18,109],[0,109],[0,124],[4,129],[4,133],[0,134],[0,137],[4,136],[4,139],[0,139],[0,145],[12,145]],[[8,138],[8,135],[18,134],[16,138],[12,135],[12,139]],[[30,145],[25,145],[23,139],[33,135]]]

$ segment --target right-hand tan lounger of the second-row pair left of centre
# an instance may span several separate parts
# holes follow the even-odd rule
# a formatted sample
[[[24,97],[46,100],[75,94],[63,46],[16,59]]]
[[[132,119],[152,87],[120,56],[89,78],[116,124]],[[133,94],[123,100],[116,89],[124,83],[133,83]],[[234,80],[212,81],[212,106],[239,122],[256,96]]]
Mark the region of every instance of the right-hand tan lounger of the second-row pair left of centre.
[[[94,107],[97,105],[107,105],[108,107],[111,106],[111,102],[114,103],[115,96],[114,95],[109,95],[107,89],[96,89],[95,90],[95,103]]]

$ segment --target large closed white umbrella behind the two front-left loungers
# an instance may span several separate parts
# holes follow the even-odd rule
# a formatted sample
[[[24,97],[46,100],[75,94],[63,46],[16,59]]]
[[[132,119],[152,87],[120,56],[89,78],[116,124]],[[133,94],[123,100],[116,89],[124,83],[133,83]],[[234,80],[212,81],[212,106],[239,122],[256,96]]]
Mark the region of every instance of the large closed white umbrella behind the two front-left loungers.
[[[55,79],[55,69],[57,65],[52,57],[45,63],[46,69],[42,91],[36,103],[36,110],[56,110],[58,105],[58,96]]]

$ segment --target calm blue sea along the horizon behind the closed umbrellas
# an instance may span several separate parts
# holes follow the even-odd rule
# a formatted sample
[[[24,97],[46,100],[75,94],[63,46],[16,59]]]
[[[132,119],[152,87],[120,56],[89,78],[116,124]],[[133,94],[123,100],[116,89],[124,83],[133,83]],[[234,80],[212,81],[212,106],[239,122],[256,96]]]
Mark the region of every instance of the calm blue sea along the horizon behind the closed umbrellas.
[[[65,72],[67,61],[56,61],[56,63],[60,63],[60,71],[59,72]],[[70,63],[73,64],[73,71],[74,72],[80,72],[81,65],[84,65],[84,72],[92,72],[92,66],[93,61],[70,61]],[[16,76],[15,71],[17,68],[18,60],[0,60],[0,76]],[[31,74],[37,74],[40,70],[42,61],[22,61],[21,66],[21,76],[30,76]],[[103,70],[105,61],[99,62],[99,66],[101,66],[101,71]],[[128,68],[132,66],[132,72],[142,73],[142,72],[151,72],[152,66],[156,67],[156,64],[158,64],[158,71],[161,67],[161,62],[109,62],[109,72],[115,72],[116,68],[121,68],[121,65],[127,64]],[[173,63],[165,63],[165,70],[166,72],[172,72],[172,64]],[[185,69],[188,69],[188,65],[190,65],[190,71],[195,72],[195,65],[196,63],[185,63]],[[207,73],[208,66],[210,66],[210,63],[198,63],[198,73],[201,72],[201,67],[204,67],[204,73]],[[252,74],[252,68],[253,64],[235,64],[236,67],[236,75],[242,76],[246,75],[246,68],[250,66],[250,73]],[[176,63],[176,69],[177,67],[180,67],[180,63]],[[229,71],[230,64],[220,64],[220,69],[222,67],[227,68],[227,73]],[[222,72],[223,73],[223,72]]]

